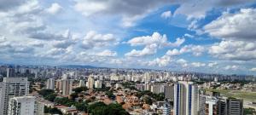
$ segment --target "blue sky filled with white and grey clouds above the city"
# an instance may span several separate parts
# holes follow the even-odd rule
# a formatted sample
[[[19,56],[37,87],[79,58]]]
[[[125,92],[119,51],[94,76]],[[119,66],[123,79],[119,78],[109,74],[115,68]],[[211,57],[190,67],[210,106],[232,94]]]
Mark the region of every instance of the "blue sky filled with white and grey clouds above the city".
[[[256,75],[254,0],[6,0],[0,62]]]

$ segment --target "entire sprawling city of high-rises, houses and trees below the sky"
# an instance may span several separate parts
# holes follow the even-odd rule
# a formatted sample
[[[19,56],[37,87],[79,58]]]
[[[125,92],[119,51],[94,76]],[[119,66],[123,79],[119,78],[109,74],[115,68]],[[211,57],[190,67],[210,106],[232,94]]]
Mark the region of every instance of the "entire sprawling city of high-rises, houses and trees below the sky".
[[[0,66],[1,115],[243,115],[256,78],[146,69]]]

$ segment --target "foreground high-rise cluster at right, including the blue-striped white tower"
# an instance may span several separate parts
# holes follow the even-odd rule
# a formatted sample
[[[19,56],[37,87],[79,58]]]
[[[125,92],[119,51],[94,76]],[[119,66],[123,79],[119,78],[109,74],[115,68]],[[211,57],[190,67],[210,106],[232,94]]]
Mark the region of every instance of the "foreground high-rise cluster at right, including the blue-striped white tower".
[[[174,85],[174,115],[243,115],[243,101],[207,94],[193,82],[180,81]]]

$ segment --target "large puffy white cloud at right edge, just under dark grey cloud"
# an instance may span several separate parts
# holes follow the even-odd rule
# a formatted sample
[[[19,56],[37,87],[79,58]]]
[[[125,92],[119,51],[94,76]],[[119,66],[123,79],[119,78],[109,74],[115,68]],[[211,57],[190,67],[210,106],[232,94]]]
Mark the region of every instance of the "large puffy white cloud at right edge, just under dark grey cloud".
[[[217,20],[204,26],[205,32],[213,37],[232,40],[255,40],[256,9],[240,9],[239,12],[224,13]]]

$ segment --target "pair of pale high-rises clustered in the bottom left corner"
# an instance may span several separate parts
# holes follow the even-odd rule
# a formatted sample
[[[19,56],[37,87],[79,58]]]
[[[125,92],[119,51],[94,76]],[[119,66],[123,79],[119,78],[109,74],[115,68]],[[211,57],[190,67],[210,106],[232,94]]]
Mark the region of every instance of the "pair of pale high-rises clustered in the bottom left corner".
[[[10,72],[8,72],[9,75]],[[27,78],[3,78],[0,83],[0,115],[43,115],[44,106],[29,94]]]

